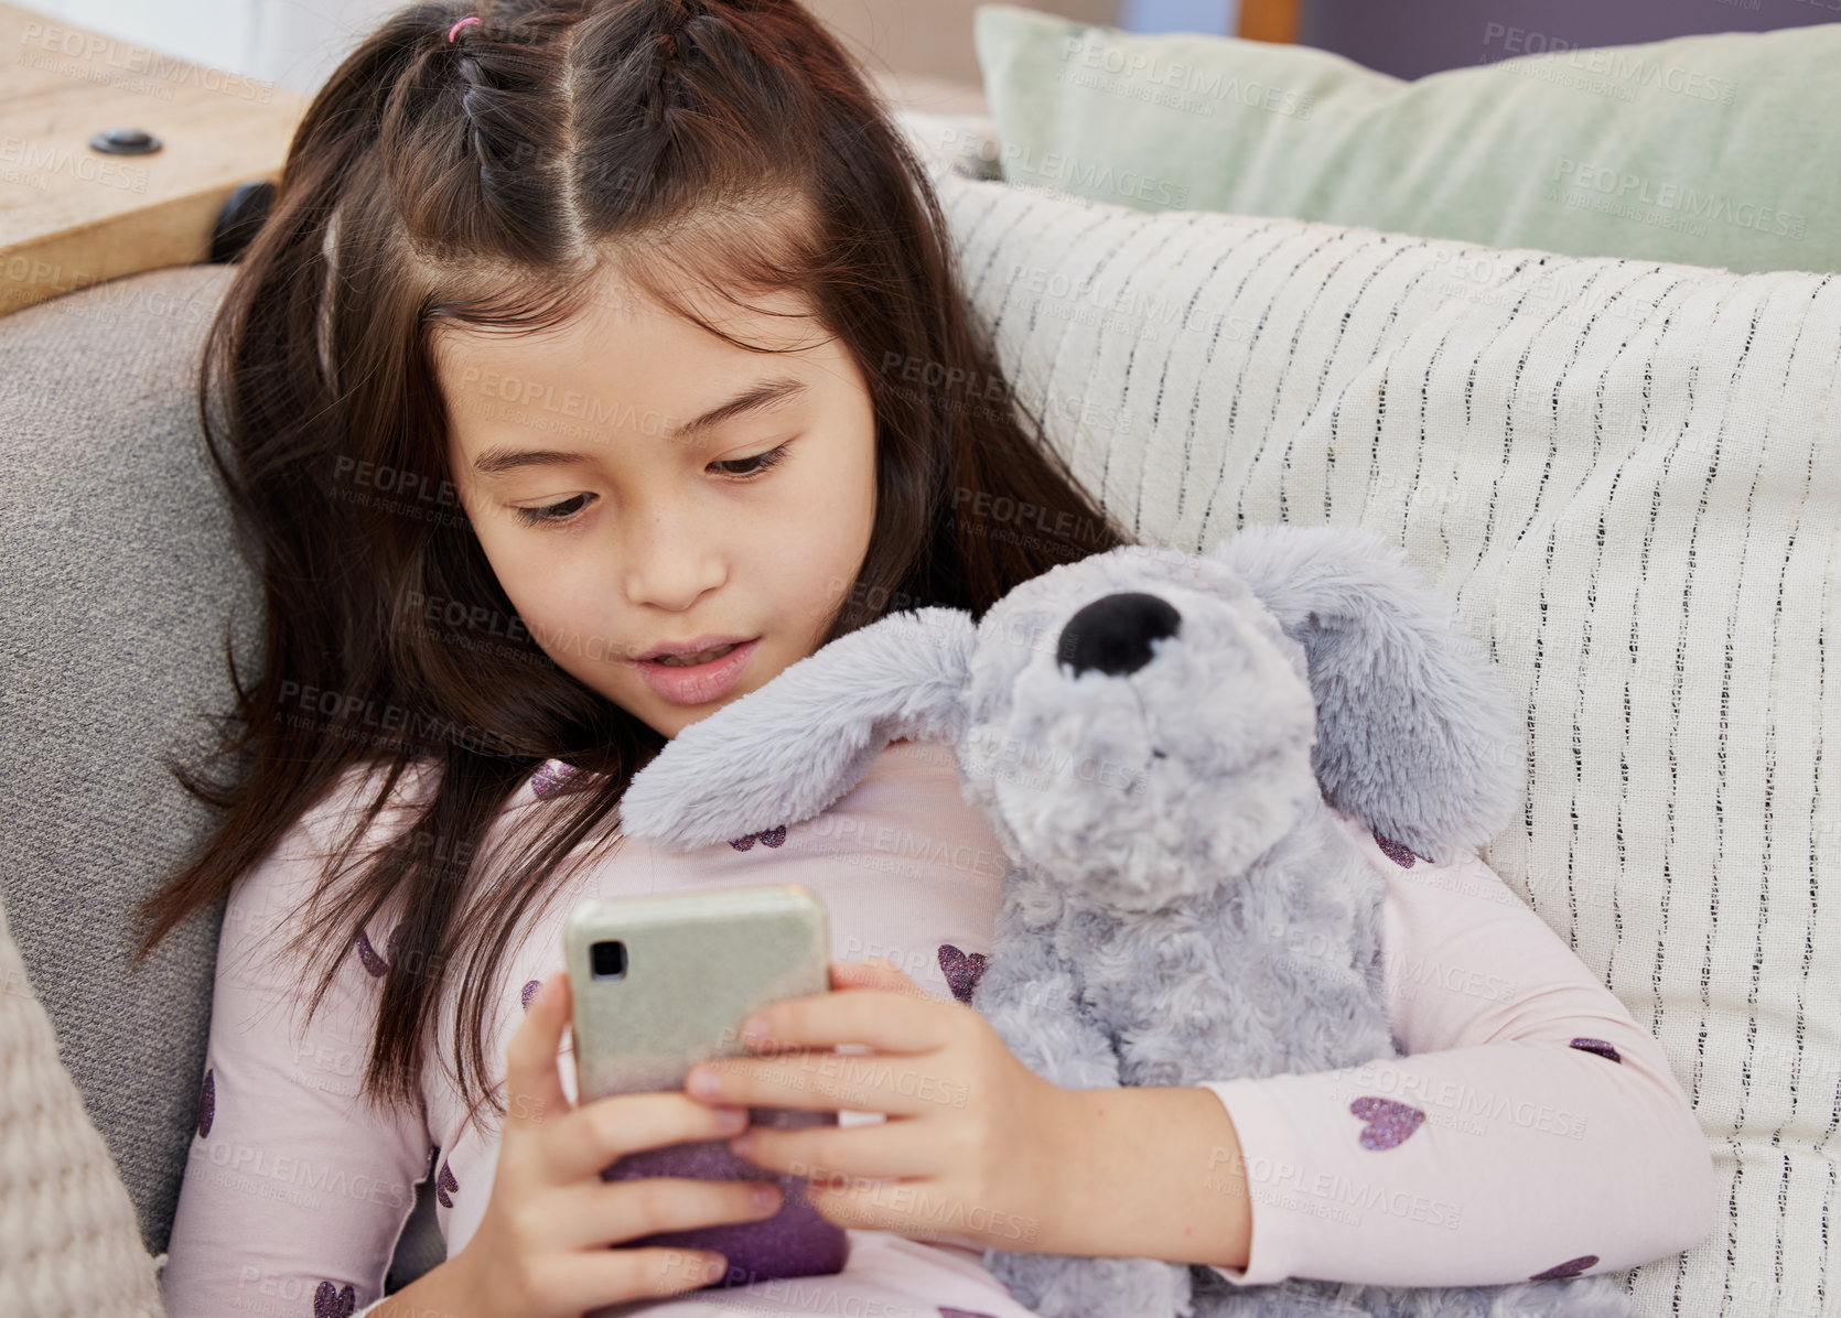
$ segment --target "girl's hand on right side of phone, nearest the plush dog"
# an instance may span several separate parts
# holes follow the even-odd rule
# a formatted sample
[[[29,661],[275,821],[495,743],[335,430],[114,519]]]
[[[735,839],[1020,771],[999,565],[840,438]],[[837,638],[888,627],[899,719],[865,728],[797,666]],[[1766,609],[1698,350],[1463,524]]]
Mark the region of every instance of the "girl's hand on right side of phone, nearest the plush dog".
[[[768,1130],[729,1147],[805,1176],[830,1222],[1022,1254],[1060,1191],[1075,1114],[1068,1090],[1031,1071],[970,1005],[928,994],[889,961],[832,961],[832,988],[751,1016],[773,1057],[700,1062],[703,1103],[882,1112],[854,1127]],[[867,1044],[867,1053],[832,1053]],[[777,1051],[825,1049],[825,1051]],[[707,1081],[709,1088],[700,1088]]]

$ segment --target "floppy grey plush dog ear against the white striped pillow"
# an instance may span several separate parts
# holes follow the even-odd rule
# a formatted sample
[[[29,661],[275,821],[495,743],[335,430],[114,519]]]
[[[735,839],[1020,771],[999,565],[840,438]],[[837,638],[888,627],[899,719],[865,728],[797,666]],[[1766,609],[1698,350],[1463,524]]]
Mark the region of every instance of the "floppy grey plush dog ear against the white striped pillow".
[[[1399,549],[1353,526],[1248,526],[1210,556],[1303,646],[1329,804],[1434,861],[1508,825],[1526,769],[1506,692]]]

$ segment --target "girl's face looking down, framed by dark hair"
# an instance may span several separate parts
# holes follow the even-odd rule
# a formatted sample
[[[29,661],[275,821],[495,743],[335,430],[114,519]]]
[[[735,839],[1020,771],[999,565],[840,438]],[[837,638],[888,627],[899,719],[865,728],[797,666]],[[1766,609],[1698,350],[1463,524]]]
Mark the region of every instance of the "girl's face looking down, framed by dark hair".
[[[736,348],[611,276],[554,330],[434,344],[457,493],[521,624],[663,736],[812,653],[869,550],[867,383],[806,307],[751,300],[799,318],[696,309],[795,352]],[[749,644],[637,663],[700,637]]]

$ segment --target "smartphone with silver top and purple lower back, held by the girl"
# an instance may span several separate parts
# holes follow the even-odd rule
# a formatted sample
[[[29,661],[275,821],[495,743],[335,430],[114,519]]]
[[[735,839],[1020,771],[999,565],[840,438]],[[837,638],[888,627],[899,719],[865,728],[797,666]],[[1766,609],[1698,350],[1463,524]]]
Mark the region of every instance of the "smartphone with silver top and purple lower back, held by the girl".
[[[573,996],[576,1101],[683,1090],[711,1057],[751,1057],[742,1022],[782,998],[830,990],[825,904],[803,884],[705,889],[582,902],[563,928]],[[749,1108],[749,1123],[779,1130],[838,1125],[836,1112]],[[718,1250],[727,1272],[700,1290],[770,1278],[841,1272],[845,1230],[819,1217],[805,1178],[696,1139],[626,1154],[602,1180],[696,1176],[773,1180],[781,1209],[753,1222],[654,1231],[628,1246]]]

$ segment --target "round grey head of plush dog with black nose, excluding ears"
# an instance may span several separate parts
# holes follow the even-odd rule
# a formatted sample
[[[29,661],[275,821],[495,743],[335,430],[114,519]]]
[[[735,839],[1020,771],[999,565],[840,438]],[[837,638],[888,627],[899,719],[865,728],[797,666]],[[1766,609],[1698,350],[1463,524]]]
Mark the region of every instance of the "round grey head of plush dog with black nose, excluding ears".
[[[959,720],[1005,854],[1116,909],[1245,871],[1318,793],[1303,650],[1217,558],[1130,545],[1024,582],[970,641]]]

